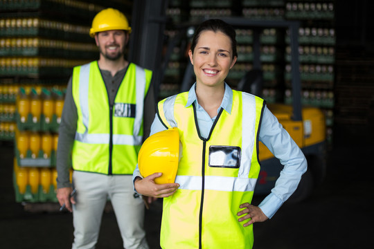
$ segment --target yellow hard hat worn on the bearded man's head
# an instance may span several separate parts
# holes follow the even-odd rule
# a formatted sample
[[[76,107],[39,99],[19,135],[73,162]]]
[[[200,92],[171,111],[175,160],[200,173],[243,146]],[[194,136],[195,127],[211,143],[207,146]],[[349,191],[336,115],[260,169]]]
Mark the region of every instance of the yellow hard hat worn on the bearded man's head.
[[[131,27],[125,15],[114,8],[107,8],[98,12],[92,21],[89,36],[94,37],[96,33],[107,30],[127,30],[131,33]]]

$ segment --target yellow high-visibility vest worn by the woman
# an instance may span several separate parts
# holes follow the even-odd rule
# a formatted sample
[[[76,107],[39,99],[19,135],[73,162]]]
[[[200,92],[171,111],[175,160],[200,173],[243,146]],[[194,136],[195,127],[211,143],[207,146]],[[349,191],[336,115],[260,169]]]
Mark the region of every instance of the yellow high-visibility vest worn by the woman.
[[[178,127],[183,153],[176,183],[163,200],[161,247],[252,248],[253,226],[243,227],[237,213],[251,203],[260,164],[258,134],[265,101],[233,91],[231,113],[221,109],[208,138],[199,134],[188,93],[158,104],[163,124]]]

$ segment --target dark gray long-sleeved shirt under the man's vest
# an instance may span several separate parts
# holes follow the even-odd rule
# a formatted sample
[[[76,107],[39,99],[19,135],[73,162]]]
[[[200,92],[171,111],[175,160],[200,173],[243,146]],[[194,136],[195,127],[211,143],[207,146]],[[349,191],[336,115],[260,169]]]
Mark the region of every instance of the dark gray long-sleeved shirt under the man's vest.
[[[101,70],[105,87],[108,93],[109,104],[114,104],[116,93],[121,85],[123,77],[125,77],[127,68],[118,71],[116,75],[112,76],[110,71]],[[154,77],[152,78],[154,79]],[[150,134],[150,126],[152,124],[154,114],[156,113],[154,90],[151,82],[150,89],[144,100],[144,114],[143,127],[144,136],[148,138]],[[59,127],[58,145],[57,145],[57,188],[71,187],[69,179],[69,169],[71,168],[71,150],[75,138],[75,131],[77,129],[78,113],[72,93],[72,79],[70,78],[66,88],[66,96],[64,102],[64,109],[62,110],[61,123]],[[135,166],[135,165],[134,165]]]

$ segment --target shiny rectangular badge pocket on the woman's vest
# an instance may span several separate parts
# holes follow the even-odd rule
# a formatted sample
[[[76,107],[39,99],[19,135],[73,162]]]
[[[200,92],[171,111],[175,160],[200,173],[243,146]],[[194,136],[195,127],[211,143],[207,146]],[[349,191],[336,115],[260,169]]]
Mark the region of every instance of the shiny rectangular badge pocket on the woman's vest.
[[[209,147],[209,166],[237,169],[240,167],[242,149],[238,146],[211,145]]]

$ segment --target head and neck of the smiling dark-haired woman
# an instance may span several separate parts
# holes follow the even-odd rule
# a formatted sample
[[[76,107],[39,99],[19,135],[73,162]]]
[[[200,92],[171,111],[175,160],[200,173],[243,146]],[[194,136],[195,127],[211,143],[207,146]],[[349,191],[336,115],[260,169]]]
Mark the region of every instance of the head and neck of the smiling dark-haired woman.
[[[199,104],[213,118],[224,95],[224,80],[236,62],[235,31],[221,20],[197,28],[188,52],[196,75]]]

